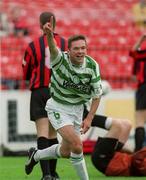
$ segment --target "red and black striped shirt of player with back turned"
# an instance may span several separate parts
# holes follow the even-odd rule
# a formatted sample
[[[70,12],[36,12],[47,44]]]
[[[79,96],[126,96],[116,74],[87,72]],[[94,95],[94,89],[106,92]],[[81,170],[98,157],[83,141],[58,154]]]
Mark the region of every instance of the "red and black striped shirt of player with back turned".
[[[54,33],[57,46],[62,50],[67,49],[64,38]],[[23,79],[29,80],[31,90],[48,87],[51,77],[50,52],[46,35],[29,43],[23,59]]]

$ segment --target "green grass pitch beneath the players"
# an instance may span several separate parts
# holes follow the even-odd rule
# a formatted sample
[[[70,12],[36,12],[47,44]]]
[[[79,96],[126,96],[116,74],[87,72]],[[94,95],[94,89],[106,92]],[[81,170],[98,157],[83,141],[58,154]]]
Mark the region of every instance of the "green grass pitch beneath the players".
[[[146,177],[105,177],[99,173],[92,165],[90,156],[85,156],[90,180],[144,180]],[[41,172],[39,165],[36,165],[31,175],[24,173],[24,164],[27,157],[0,157],[0,180],[40,180]],[[78,180],[75,170],[70,161],[59,159],[57,171],[61,180]]]

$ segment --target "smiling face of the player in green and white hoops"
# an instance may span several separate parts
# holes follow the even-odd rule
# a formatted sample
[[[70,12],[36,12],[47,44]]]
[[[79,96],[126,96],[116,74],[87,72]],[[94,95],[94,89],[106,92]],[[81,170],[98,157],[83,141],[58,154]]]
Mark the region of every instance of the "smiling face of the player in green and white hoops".
[[[84,40],[77,40],[71,43],[69,49],[70,60],[75,65],[81,65],[84,62],[84,57],[87,54],[87,45]]]

